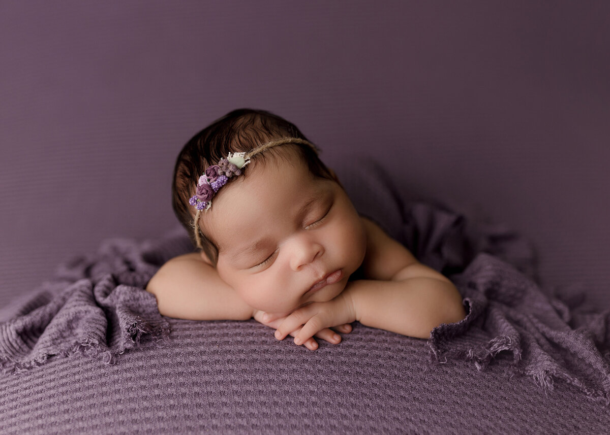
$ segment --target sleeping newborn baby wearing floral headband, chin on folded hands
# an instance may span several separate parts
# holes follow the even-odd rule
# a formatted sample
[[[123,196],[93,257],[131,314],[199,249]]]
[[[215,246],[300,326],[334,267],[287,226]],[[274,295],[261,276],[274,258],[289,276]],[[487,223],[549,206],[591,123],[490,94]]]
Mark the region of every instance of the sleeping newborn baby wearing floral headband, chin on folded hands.
[[[173,208],[198,252],[151,278],[164,316],[254,317],[297,345],[339,343],[351,322],[429,338],[465,317],[448,278],[359,216],[292,123],[235,110],[182,148]]]

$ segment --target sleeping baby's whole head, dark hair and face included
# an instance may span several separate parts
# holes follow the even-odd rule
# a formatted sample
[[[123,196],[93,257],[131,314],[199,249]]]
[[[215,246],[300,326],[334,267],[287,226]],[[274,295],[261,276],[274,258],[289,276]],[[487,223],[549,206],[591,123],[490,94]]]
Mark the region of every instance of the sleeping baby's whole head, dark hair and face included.
[[[196,201],[206,169],[240,152],[250,163],[233,160],[226,185],[212,183],[211,207]],[[362,222],[336,177],[294,124],[267,111],[235,110],[195,135],[172,190],[203,258],[253,308],[279,313],[330,300],[364,259]]]

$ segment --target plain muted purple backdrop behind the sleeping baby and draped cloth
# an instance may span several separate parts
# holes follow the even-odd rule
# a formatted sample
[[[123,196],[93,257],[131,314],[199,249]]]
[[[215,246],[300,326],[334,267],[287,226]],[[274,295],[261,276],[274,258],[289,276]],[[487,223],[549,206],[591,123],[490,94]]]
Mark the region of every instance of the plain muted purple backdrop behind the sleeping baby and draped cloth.
[[[102,239],[174,228],[178,150],[237,107],[349,178],[529,236],[548,285],[610,282],[608,2],[1,2],[0,307]],[[383,158],[389,155],[389,158]],[[349,179],[346,180],[349,183]]]

